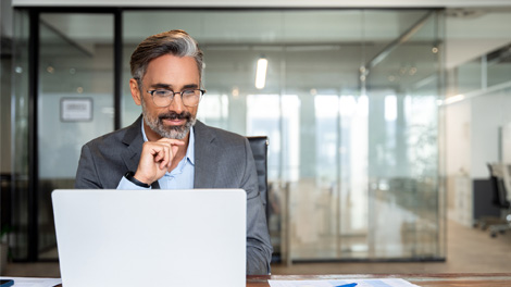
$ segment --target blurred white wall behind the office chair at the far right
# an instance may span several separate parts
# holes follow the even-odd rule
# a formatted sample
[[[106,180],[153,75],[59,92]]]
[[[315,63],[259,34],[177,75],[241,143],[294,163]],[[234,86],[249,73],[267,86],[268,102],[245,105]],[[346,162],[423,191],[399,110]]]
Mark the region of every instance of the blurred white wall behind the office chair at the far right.
[[[491,91],[446,105],[446,171],[448,176],[466,173],[488,178],[486,163],[500,161],[499,129],[511,122],[511,89]],[[509,147],[502,147],[511,154]],[[511,157],[511,155],[509,155]]]

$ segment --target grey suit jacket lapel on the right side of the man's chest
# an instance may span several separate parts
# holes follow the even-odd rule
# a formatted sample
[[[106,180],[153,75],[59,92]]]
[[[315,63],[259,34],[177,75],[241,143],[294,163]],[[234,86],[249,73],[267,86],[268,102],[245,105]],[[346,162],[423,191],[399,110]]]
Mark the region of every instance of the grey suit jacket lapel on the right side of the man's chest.
[[[197,121],[194,126],[195,133],[195,175],[194,188],[215,187],[217,169],[214,164],[217,161],[215,136],[208,126]]]

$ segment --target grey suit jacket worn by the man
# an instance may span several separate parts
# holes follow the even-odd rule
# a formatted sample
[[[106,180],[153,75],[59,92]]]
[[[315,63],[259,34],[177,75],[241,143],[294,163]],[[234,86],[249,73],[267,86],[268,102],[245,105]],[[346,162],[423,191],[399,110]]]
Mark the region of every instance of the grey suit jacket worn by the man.
[[[115,189],[126,172],[135,172],[144,144],[140,128],[141,116],[128,127],[86,144],[82,148],[75,188]],[[199,121],[194,130],[194,187],[246,190],[247,274],[267,274],[273,249],[248,140]],[[158,182],[152,187],[159,188]]]

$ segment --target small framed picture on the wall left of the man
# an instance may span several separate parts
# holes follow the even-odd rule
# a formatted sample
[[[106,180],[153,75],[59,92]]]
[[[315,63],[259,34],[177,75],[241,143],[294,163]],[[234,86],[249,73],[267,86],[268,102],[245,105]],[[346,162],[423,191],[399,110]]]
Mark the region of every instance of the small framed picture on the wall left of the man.
[[[92,121],[92,98],[62,98],[60,118],[62,122]]]

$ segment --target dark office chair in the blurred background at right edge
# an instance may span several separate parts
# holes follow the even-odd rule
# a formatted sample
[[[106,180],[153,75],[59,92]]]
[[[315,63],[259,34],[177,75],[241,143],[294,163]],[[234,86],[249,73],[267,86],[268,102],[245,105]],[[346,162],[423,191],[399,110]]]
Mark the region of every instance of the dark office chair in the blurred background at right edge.
[[[493,185],[493,204],[501,210],[501,221],[498,224],[489,225],[491,237],[496,237],[497,233],[504,233],[511,229],[511,204],[508,200],[510,190],[510,171],[504,164],[488,164],[490,172],[490,180]]]

